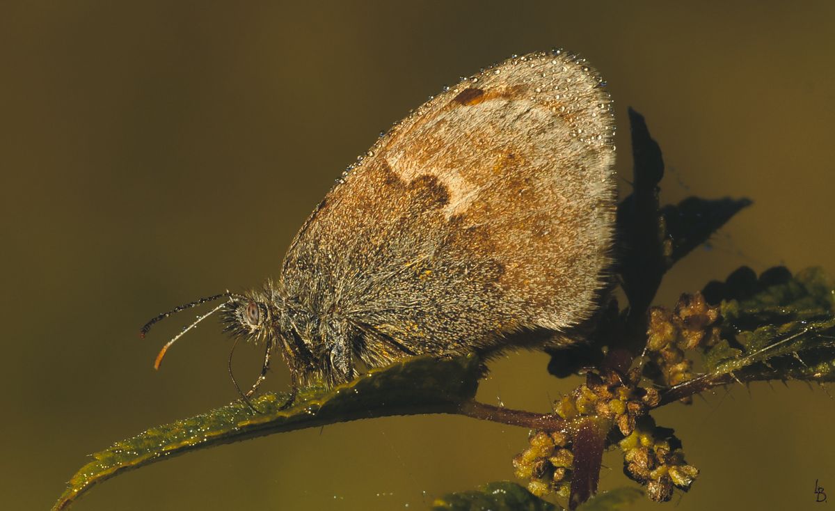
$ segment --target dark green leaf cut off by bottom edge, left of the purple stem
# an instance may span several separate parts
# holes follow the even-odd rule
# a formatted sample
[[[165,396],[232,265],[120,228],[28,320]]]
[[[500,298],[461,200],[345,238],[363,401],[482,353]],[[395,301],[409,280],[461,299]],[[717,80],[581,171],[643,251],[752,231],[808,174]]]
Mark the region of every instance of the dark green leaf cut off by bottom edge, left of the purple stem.
[[[544,501],[517,483],[488,483],[477,490],[449,493],[435,499],[433,511],[556,511],[559,506]]]

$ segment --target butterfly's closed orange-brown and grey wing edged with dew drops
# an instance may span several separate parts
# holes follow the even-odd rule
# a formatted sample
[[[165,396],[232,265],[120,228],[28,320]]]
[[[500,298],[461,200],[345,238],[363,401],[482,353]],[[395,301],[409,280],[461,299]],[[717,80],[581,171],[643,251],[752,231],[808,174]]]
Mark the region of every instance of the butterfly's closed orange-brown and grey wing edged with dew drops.
[[[347,329],[377,365],[590,316],[610,264],[613,132],[599,76],[565,53],[511,58],[423,104],[286,255],[283,292],[318,318],[306,342]]]

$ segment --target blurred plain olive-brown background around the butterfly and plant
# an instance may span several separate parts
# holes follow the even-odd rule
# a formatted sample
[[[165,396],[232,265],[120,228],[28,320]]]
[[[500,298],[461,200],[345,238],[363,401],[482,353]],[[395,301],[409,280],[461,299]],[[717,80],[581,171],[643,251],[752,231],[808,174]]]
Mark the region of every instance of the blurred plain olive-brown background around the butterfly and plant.
[[[737,266],[835,274],[832,3],[3,2],[3,508],[44,509],[86,455],[236,397],[230,341],[171,306],[276,276],[296,229],[381,129],[511,53],[581,53],[665,154],[663,198],[756,201],[671,272],[672,304]],[[236,353],[238,377],[259,350]],[[547,411],[576,382],[509,354],[480,398]],[[281,363],[267,387],[286,388]],[[780,383],[655,413],[701,468],[666,508],[812,508],[835,494],[835,402]],[[527,431],[392,417],[273,435],[94,488],[93,509],[426,508],[513,478]],[[620,453],[601,487],[631,484]],[[659,509],[642,502],[635,508]]]

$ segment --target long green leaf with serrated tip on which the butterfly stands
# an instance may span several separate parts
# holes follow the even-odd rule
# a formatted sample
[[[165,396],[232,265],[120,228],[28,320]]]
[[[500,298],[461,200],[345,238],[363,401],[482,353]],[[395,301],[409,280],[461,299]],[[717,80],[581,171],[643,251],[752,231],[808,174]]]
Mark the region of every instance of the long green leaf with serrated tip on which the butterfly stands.
[[[455,412],[461,402],[473,399],[482,374],[483,366],[474,356],[414,357],[330,391],[306,389],[286,410],[281,410],[286,396],[267,393],[252,400],[261,413],[233,402],[150,428],[95,453],[70,479],[53,509],[67,508],[94,484],[118,473],[198,448],[360,418]]]

